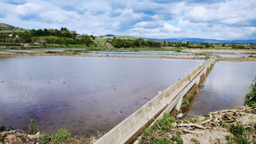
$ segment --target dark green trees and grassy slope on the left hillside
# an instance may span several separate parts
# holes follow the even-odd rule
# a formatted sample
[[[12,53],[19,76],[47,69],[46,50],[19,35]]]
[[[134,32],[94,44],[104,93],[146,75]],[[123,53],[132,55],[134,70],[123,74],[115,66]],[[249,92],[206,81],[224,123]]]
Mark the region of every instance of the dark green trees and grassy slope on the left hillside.
[[[92,41],[94,39],[96,39],[96,37],[92,35],[83,35],[81,37],[77,37],[77,33],[75,31],[69,31],[65,27],[61,27],[61,30],[32,29],[31,31],[27,32],[0,33],[0,42],[2,43],[56,43],[85,44],[89,46],[90,44],[95,44]]]

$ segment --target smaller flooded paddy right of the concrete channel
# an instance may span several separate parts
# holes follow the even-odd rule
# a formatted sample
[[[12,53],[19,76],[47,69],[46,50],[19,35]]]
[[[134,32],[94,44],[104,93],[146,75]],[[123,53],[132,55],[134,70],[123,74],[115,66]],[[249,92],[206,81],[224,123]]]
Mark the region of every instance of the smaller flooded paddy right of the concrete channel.
[[[216,62],[187,118],[212,111],[242,107],[247,87],[252,83],[254,76],[256,76],[256,61]]]

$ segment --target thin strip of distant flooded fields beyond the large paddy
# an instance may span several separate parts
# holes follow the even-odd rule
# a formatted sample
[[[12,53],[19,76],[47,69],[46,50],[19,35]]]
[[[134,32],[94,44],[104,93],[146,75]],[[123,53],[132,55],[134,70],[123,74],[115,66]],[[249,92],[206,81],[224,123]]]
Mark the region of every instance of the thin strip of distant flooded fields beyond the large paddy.
[[[102,51],[91,51],[90,49],[75,49],[75,48],[47,48],[47,49],[6,49],[0,48],[0,53],[23,53],[23,54],[37,54],[37,53],[45,53],[45,52],[71,52],[76,51],[79,55],[101,55],[101,56],[143,56],[143,57],[212,57],[212,56],[221,56],[223,58],[229,57],[248,57],[248,56],[256,56],[256,55],[236,55],[236,54],[195,54],[189,52],[177,52],[171,50],[135,50],[130,51],[128,49],[113,49],[113,51],[102,50]]]

